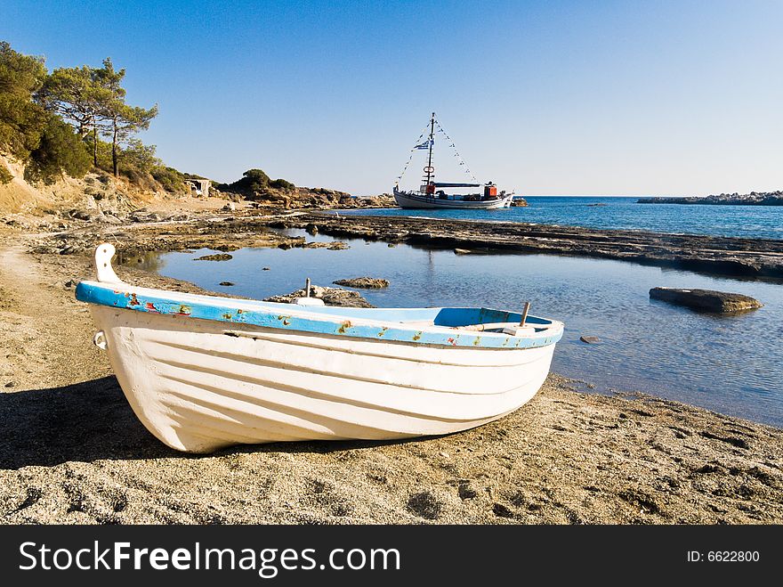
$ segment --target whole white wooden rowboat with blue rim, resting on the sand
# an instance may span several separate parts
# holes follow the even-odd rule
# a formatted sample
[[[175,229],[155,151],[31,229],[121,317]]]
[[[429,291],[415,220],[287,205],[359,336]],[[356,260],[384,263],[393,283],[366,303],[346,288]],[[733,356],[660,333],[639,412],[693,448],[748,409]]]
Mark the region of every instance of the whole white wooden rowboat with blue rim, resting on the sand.
[[[486,308],[349,308],[146,289],[114,247],[81,281],[133,412],[165,444],[442,435],[513,412],[549,371],[561,322]],[[524,315],[523,315],[524,314]]]

